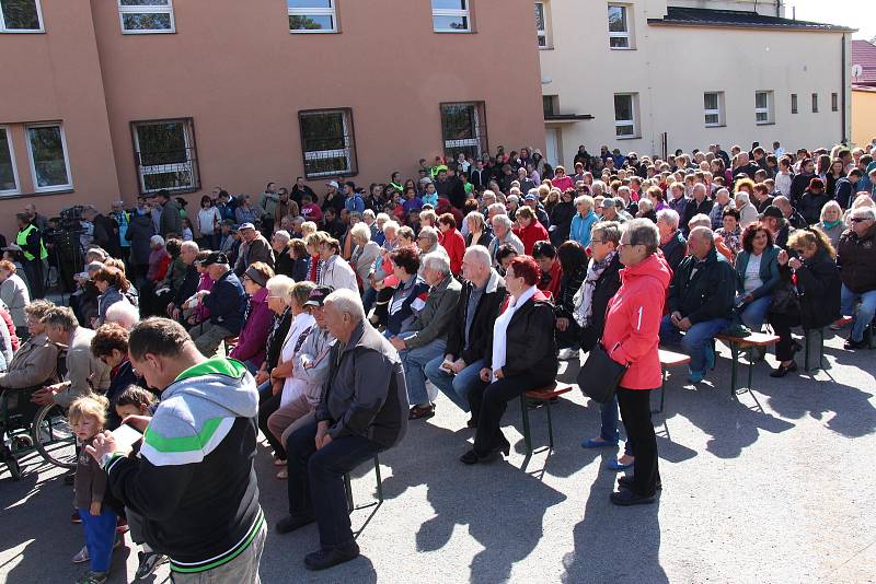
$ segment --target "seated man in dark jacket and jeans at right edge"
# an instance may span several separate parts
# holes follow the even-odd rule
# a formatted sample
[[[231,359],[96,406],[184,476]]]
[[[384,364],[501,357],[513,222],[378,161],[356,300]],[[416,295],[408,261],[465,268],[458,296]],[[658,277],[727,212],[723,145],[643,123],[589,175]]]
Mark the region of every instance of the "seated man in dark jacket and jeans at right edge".
[[[840,235],[837,264],[842,279],[842,314],[854,316],[845,349],[869,346],[876,315],[876,215],[872,207],[854,209],[851,227]]]

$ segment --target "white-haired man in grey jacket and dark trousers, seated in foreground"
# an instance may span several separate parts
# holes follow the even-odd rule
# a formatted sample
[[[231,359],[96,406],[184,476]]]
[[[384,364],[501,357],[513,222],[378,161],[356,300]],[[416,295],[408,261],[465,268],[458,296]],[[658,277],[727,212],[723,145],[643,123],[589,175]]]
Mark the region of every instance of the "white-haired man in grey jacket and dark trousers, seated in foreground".
[[[407,389],[399,353],[365,318],[351,290],[325,299],[325,323],[337,339],[328,359],[328,381],[316,420],[292,432],[286,443],[289,515],[277,523],[286,534],[313,523],[320,550],[304,558],[309,570],[353,560],[353,539],[344,475],[399,443],[407,427]]]

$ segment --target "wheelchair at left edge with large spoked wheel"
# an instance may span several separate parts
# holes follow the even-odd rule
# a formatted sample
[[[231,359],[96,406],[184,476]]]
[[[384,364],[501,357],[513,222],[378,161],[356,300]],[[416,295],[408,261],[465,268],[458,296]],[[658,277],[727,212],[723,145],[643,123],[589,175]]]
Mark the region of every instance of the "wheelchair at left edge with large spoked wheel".
[[[58,355],[58,376],[66,370],[66,354]],[[0,462],[12,480],[21,479],[20,458],[38,452],[50,465],[76,468],[77,440],[67,421],[67,412],[57,404],[39,406],[31,401],[33,393],[54,383],[23,389],[0,389]]]

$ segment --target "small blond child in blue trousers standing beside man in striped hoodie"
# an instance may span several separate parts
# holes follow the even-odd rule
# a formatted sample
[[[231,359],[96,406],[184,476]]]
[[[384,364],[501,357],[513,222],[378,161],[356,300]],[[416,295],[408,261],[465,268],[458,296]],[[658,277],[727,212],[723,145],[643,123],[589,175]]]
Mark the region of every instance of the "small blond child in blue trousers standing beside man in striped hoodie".
[[[73,401],[68,413],[72,430],[82,442],[73,481],[74,505],[85,528],[85,547],[91,562],[91,571],[79,580],[80,584],[106,582],[113,558],[117,517],[110,505],[103,504],[106,472],[85,452],[85,445],[91,444],[94,436],[103,432],[107,406],[105,397],[92,394]]]

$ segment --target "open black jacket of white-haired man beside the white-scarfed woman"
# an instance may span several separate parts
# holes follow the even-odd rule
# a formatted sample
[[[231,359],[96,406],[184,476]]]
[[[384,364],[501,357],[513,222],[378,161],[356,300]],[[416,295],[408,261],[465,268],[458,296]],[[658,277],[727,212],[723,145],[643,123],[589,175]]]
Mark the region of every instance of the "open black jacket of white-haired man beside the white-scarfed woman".
[[[474,284],[471,282],[462,284],[457,311],[447,332],[447,354],[453,355],[454,359],[462,359],[466,365],[474,363],[479,359],[483,359],[485,362],[489,361],[492,357],[493,323],[499,315],[499,308],[507,295],[505,282],[499,275],[496,272],[491,273],[486,290],[484,290],[475,307],[466,344],[465,314],[473,289]]]

